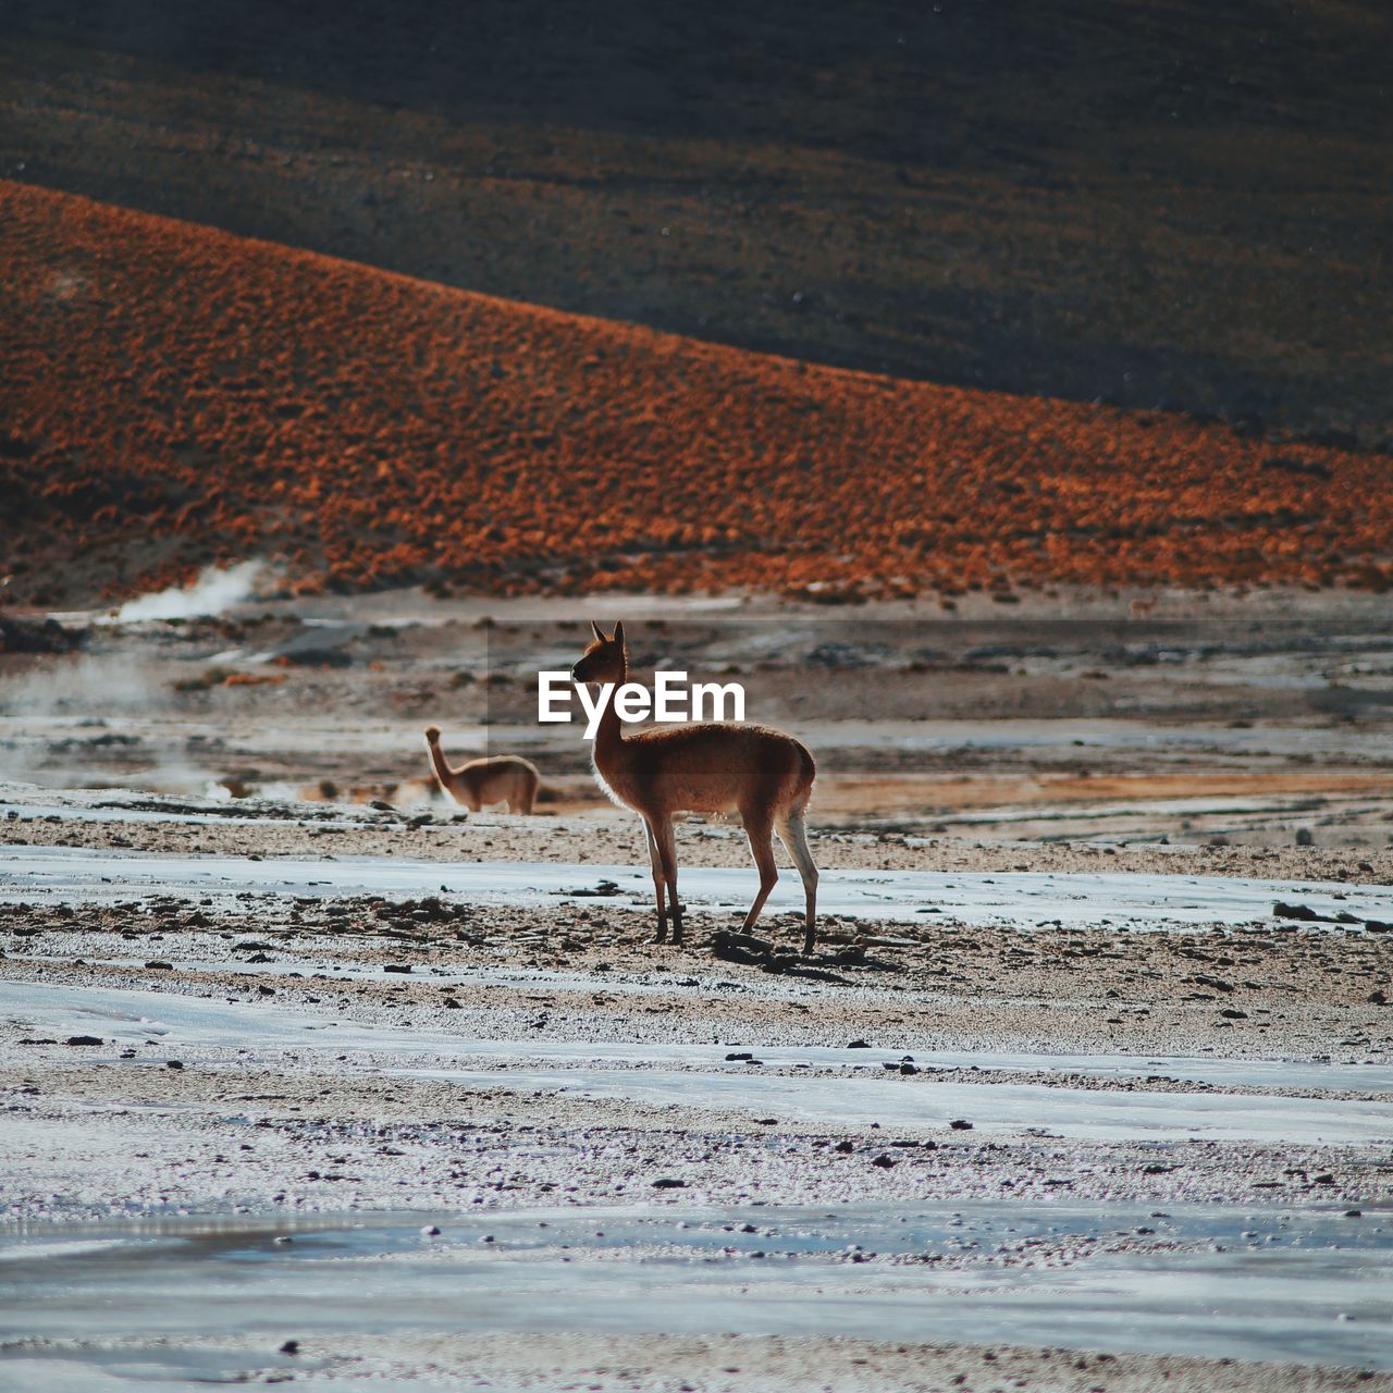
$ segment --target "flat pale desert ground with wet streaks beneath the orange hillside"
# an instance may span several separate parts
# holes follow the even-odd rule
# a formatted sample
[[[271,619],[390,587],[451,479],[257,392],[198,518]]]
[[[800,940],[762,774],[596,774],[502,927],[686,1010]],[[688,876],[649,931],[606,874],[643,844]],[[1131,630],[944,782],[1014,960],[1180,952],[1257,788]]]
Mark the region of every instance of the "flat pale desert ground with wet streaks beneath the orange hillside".
[[[812,957],[791,872],[733,936],[712,819],[649,942],[535,722],[566,602],[160,596],[0,657],[0,1371],[1393,1386],[1390,623],[1155,600],[599,603],[816,752]],[[435,795],[428,723],[539,814]]]

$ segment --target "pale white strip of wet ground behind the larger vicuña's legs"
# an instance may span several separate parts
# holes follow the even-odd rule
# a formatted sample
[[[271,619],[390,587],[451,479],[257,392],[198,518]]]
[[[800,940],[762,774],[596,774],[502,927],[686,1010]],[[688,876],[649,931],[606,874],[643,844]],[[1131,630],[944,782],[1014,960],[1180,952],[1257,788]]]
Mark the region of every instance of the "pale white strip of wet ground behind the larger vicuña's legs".
[[[584,903],[609,882],[606,903],[648,910],[652,880],[631,865],[552,865],[540,861],[449,865],[396,857],[304,859],[276,857],[149,855],[78,847],[0,848],[0,903],[24,900],[110,904],[150,894],[428,896],[481,905]],[[744,911],[748,868],[683,868],[683,901],[694,911]],[[825,915],[928,922],[931,915],[968,925],[1031,928],[1057,921],[1080,928],[1185,929],[1272,918],[1276,901],[1300,900],[1329,919],[1393,919],[1393,890],[1340,882],[1256,880],[1134,872],[825,871],[818,908]],[[797,876],[786,873],[768,908],[802,908]],[[1339,929],[1341,925],[1332,924]]]

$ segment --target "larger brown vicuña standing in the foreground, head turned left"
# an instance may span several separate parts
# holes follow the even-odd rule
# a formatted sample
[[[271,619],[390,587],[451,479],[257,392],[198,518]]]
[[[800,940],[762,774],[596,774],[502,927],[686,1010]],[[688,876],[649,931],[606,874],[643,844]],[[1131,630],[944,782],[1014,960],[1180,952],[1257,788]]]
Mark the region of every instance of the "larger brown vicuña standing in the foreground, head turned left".
[[[617,691],[628,676],[628,652],[624,625],[616,624],[609,638],[593,621],[595,642],[571,669],[578,683],[613,683]],[[818,917],[818,868],[808,850],[804,811],[812,797],[816,765],[812,755],[793,736],[765,726],[736,722],[703,722],[692,726],[669,726],[625,736],[620,729],[613,699],[605,703],[595,733],[592,751],[595,777],[616,801],[632,808],[644,819],[648,833],[648,858],[653,868],[653,892],[657,897],[657,937],[667,937],[671,914],[673,942],[683,937],[683,911],[677,900],[677,839],[673,815],[677,812],[738,812],[749,850],[759,868],[759,894],[745,915],[748,933],[769,892],[779,879],[775,865],[772,833],[779,833],[788,855],[802,876],[808,901],[804,953],[812,951]],[[664,904],[666,886],[671,910]]]

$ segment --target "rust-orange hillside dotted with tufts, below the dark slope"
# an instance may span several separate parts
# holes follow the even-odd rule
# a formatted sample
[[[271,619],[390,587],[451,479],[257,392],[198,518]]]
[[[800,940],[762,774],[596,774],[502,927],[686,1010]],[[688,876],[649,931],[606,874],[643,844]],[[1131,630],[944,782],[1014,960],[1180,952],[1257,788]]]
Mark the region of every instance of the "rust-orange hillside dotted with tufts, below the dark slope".
[[[1386,456],[901,382],[0,184],[8,593],[1385,586]]]

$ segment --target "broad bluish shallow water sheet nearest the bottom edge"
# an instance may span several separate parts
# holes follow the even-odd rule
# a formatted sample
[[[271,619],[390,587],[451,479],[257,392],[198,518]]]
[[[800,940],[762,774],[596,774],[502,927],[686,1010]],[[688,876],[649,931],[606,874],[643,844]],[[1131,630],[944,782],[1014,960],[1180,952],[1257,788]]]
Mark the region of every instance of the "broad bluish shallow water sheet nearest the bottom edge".
[[[432,1219],[439,1236],[422,1231]],[[971,1332],[1393,1368],[1390,1283],[1393,1208],[1360,1219],[1006,1202],[176,1219],[0,1234],[0,1339],[170,1341],[167,1358],[194,1336],[315,1351],[336,1332]],[[0,1350],[0,1379],[32,1353]]]

